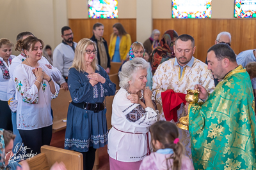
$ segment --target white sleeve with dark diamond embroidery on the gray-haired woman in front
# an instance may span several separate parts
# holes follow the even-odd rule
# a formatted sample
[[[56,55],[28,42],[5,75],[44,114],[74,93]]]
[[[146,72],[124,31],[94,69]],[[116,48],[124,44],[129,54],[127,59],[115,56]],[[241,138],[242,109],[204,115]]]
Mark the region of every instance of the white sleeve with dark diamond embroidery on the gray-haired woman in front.
[[[138,105],[127,113],[125,117],[129,122],[134,123],[136,127],[149,127],[159,120],[159,112],[149,107],[144,110],[141,105]]]

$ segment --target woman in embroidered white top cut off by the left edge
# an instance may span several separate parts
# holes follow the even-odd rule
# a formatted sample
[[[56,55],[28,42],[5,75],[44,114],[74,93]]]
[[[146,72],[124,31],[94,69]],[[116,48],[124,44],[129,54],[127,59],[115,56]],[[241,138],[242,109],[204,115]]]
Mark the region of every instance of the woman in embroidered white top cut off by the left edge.
[[[0,39],[0,128],[12,131],[12,111],[8,106],[7,87],[10,80],[9,67],[12,64],[13,43]]]

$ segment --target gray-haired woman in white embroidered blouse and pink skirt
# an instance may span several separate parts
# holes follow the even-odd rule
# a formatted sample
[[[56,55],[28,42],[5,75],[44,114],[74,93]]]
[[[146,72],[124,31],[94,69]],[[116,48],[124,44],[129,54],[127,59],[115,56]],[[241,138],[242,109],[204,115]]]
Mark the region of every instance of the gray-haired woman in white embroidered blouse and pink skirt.
[[[159,120],[147,83],[146,60],[135,58],[125,62],[119,72],[120,87],[112,105],[112,129],[108,136],[110,169],[139,169],[150,154],[149,127]]]

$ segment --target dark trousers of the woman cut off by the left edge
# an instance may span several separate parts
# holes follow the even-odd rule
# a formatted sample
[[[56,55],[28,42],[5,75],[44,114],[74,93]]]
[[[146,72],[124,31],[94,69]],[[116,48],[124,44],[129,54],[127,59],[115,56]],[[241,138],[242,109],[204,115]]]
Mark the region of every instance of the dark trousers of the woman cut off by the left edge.
[[[12,111],[8,101],[0,101],[0,129],[12,131]]]

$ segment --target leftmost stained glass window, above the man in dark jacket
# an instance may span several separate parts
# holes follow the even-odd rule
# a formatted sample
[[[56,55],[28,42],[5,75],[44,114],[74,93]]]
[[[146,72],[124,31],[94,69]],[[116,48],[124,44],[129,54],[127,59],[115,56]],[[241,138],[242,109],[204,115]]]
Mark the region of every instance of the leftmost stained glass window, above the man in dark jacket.
[[[89,18],[118,18],[117,0],[88,0]]]

